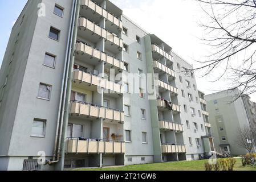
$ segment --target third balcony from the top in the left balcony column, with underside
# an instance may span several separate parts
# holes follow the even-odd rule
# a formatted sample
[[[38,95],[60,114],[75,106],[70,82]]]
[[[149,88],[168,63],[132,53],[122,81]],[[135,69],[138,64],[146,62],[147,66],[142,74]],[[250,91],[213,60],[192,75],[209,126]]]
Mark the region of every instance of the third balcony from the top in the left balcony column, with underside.
[[[111,67],[115,67],[117,69],[124,69],[124,62],[115,59],[115,57],[109,56],[107,53],[99,51],[87,44],[82,42],[76,44],[76,53],[77,56],[80,57],[80,60],[92,60],[94,63],[92,65],[98,64],[99,61],[103,61],[111,65]]]

